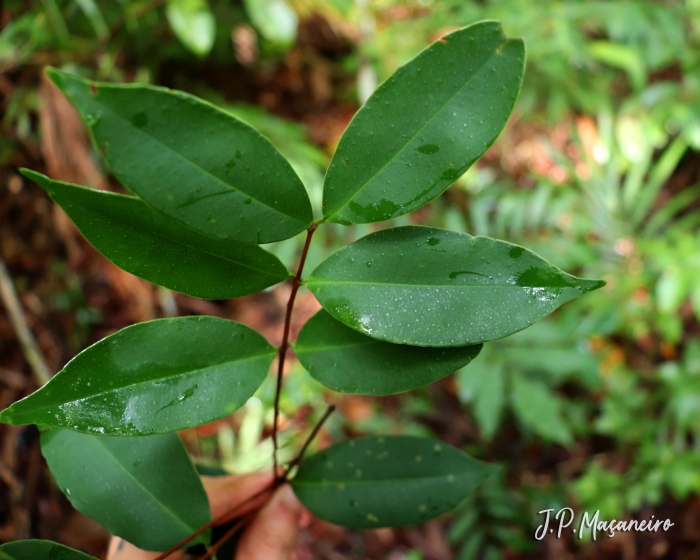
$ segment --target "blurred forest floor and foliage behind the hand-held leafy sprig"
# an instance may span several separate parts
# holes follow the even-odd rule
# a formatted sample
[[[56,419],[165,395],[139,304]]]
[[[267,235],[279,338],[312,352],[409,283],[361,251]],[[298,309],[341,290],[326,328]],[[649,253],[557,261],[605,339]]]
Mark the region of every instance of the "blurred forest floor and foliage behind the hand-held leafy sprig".
[[[5,0],[0,12],[0,250],[53,370],[135,321],[206,313],[279,342],[288,286],[233,302],[121,272],[17,174],[119,190],[46,65],[199,95],[280,149],[320,214],[323,174],[378,83],[445,33],[482,19],[524,37],[528,67],[506,130],[419,223],[523,244],[604,291],[485,346],[455,376],[386,398],[330,394],[292,363],[285,451],[320,438],[432,434],[503,465],[424,527],[354,533],[307,518],[298,558],[700,557],[700,1]],[[387,224],[383,224],[387,225]],[[324,226],[307,271],[375,229]],[[294,264],[299,239],[272,245]],[[298,331],[318,309],[298,300]],[[0,405],[33,388],[0,309]],[[274,384],[231,418],[183,432],[203,469],[267,466]],[[19,430],[19,431],[18,431]],[[99,555],[31,429],[2,427],[0,541],[55,538]],[[670,518],[666,533],[533,538],[545,508]],[[92,540],[91,540],[92,539]]]

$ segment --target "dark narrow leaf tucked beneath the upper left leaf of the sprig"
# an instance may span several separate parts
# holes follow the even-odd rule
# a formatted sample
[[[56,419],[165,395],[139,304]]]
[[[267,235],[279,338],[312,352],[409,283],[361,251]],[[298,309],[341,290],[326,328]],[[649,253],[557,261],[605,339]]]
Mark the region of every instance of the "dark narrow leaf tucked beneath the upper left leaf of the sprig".
[[[49,193],[88,241],[114,264],[171,290],[228,299],[289,277],[280,260],[261,247],[202,235],[138,198],[21,171]]]

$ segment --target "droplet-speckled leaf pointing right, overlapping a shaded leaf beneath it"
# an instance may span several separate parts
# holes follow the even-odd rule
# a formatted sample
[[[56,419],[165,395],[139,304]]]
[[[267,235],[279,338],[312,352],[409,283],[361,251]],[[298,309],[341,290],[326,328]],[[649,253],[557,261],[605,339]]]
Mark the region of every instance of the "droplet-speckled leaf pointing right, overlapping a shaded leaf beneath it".
[[[344,247],[306,284],[328,313],[372,338],[463,346],[522,330],[605,282],[505,241],[406,226]]]

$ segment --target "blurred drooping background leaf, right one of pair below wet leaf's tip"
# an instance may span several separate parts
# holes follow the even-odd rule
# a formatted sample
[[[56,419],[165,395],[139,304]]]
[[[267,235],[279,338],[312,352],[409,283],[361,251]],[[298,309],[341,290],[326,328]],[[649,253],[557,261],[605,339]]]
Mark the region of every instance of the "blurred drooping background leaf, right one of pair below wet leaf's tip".
[[[537,435],[564,445],[573,441],[561,416],[561,402],[544,383],[521,375],[512,376],[511,400],[518,419]]]

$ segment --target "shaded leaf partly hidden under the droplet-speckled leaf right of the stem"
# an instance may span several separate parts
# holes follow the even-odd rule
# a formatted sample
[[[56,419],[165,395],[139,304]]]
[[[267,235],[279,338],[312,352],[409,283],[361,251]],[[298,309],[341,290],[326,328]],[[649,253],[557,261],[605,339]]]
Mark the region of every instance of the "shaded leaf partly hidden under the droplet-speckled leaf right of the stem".
[[[321,310],[301,329],[294,352],[311,375],[341,393],[390,395],[442,379],[469,363],[481,345],[420,348],[370,338]]]

